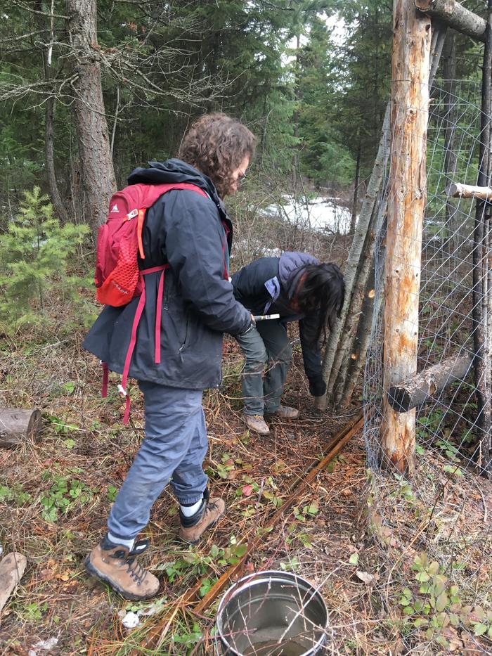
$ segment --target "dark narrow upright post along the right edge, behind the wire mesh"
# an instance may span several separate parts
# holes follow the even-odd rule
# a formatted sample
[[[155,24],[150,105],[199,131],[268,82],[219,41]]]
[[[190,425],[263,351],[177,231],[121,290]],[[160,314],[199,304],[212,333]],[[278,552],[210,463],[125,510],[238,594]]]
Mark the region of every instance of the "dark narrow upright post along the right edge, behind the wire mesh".
[[[477,186],[488,187],[491,182],[491,111],[492,111],[492,0],[488,0],[488,21],[484,49],[484,66],[481,86],[481,139],[479,154],[479,175]],[[490,252],[490,226],[488,205],[484,200],[477,201],[475,227],[473,233],[473,341],[474,376],[477,389],[477,439],[480,444],[480,465],[490,472],[491,467],[491,352],[490,325],[492,304],[489,289],[488,257]]]

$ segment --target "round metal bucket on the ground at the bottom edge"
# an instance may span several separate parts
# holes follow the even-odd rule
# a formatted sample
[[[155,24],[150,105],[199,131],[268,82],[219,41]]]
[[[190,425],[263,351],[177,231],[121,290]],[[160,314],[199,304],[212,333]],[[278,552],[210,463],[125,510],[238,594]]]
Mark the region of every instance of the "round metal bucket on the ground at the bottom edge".
[[[216,619],[221,656],[314,656],[326,641],[328,610],[306,579],[289,572],[250,574],[228,589]]]

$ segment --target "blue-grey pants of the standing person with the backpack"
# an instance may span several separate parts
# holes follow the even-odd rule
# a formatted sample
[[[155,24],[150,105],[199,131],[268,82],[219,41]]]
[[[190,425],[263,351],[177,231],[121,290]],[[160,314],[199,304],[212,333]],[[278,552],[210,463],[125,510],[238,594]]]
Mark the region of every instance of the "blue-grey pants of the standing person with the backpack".
[[[148,524],[150,508],[170,482],[180,503],[200,501],[208,477],[207,429],[201,390],[139,381],[145,405],[145,437],[108,518],[109,532],[134,538]]]

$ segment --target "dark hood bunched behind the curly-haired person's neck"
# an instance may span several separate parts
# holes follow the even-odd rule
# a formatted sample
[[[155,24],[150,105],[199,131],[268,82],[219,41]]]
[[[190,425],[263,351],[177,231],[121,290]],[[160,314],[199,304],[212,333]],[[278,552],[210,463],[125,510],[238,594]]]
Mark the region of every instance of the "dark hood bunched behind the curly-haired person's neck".
[[[128,176],[128,184],[138,184],[140,182],[176,184],[188,182],[206,191],[216,204],[222,204],[212,180],[189,164],[186,164],[186,162],[183,162],[183,160],[173,158],[165,162],[149,162],[148,165],[148,169],[141,167],[134,169]]]

